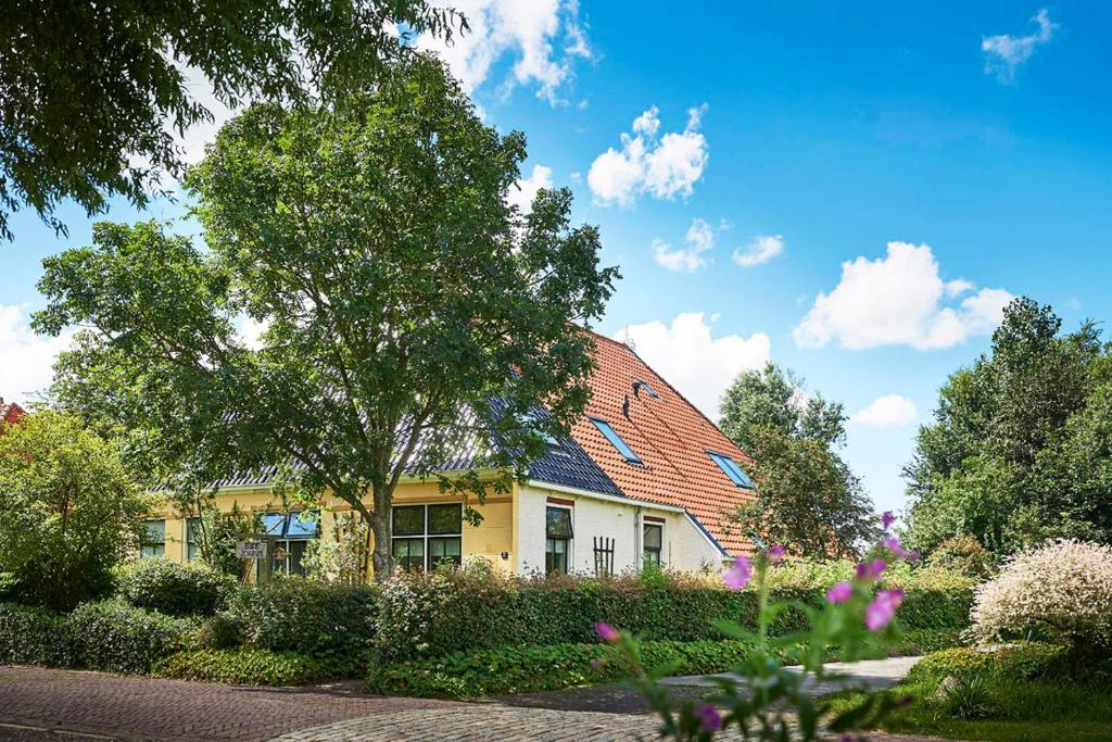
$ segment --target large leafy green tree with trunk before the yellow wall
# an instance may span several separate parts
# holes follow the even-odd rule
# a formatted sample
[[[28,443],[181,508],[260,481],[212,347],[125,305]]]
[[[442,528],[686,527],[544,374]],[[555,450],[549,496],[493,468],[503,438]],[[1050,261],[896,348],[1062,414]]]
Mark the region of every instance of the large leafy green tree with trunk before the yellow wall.
[[[36,326],[90,327],[62,367],[110,392],[76,396],[111,399],[148,438],[172,431],[180,461],[281,464],[292,495],[349,504],[386,578],[404,474],[481,499],[587,402],[574,323],[602,314],[617,271],[594,227],[570,226],[567,189],[527,216],[507,205],[524,157],[426,57],[342,109],[251,107],[185,181],[209,251],[100,225],[47,260]],[[244,316],[266,328],[257,347]],[[502,475],[439,474],[465,447]]]

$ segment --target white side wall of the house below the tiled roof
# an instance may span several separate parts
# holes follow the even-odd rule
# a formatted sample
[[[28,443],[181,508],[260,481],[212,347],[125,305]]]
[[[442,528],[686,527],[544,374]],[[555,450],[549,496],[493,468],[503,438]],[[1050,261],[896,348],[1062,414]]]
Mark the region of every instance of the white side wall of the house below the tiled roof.
[[[547,541],[545,513],[548,507],[566,507],[572,512],[575,535],[570,543],[568,564],[573,572],[594,574],[596,537],[614,540],[615,573],[641,570],[642,528],[645,516],[664,521],[661,553],[664,566],[694,571],[707,564],[714,567],[722,564],[717,548],[685,513],[645,503],[625,503],[568,493],[564,489],[550,489],[543,483],[530,483],[518,491],[515,525],[517,568],[520,574],[545,572]]]

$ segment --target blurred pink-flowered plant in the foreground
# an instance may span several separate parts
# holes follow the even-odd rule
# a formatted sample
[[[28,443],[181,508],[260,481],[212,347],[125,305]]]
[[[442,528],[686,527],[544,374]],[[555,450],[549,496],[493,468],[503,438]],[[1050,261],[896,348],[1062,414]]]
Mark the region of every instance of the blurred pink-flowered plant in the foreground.
[[[885,532],[893,520],[890,513],[884,514]],[[825,667],[827,647],[838,647],[843,659],[853,661],[881,654],[896,637],[894,619],[904,593],[898,588],[877,590],[876,582],[890,563],[914,560],[917,554],[907,552],[895,536],[885,536],[857,565],[851,580],[835,583],[827,591],[822,607],[798,606],[806,615],[803,631],[774,636],[770,630],[775,617],[792,607],[770,600],[768,574],[783,562],[784,551],[773,546],[752,562],[738,555],[723,574],[724,583],[733,591],[744,591],[751,581],[754,583],[751,592],[758,601],[757,629],[751,631],[729,620],[717,622],[722,633],[749,644],[752,650],[733,669],[733,675],[714,679],[717,693],[711,696],[677,703],[659,683],[673,673],[672,663],[653,664],[635,636],[605,622],[596,624],[598,635],[632,665],[628,684],[639,690],[659,714],[662,739],[712,740],[736,728],[747,740],[814,740],[826,733],[872,729],[904,703],[890,692],[863,692],[832,713],[831,708],[811,698],[806,683],[836,679]],[[785,664],[793,661],[801,667],[786,669]]]

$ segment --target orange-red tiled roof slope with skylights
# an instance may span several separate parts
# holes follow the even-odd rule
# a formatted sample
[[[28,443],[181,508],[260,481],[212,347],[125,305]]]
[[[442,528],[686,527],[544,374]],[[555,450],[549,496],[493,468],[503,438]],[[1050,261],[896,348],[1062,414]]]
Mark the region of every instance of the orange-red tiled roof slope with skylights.
[[[628,346],[600,335],[594,339],[593,394],[572,435],[627,496],[684,507],[731,553],[752,552],[753,543],[724,517],[752,494],[731,482],[707,452],[726,454],[747,472],[753,459]],[[634,394],[638,380],[657,398],[644,389]],[[627,462],[590,417],[609,423],[643,464]]]

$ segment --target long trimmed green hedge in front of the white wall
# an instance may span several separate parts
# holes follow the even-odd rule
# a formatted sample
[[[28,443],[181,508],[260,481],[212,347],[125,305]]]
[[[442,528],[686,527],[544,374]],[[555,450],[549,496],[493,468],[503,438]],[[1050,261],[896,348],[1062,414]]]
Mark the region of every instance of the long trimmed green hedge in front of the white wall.
[[[921,587],[905,581],[901,624],[909,630],[960,630],[967,623],[971,583]],[[818,605],[826,587],[781,585],[774,600]],[[384,588],[376,651],[380,661],[435,657],[523,644],[596,642],[605,621],[646,641],[719,640],[718,619],[749,629],[756,594],[731,592],[716,576],[663,580],[514,580],[471,574],[403,575]],[[802,610],[778,615],[775,633],[805,627]]]

